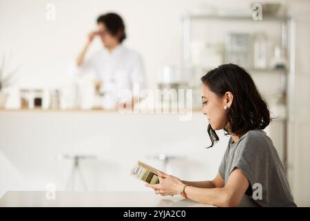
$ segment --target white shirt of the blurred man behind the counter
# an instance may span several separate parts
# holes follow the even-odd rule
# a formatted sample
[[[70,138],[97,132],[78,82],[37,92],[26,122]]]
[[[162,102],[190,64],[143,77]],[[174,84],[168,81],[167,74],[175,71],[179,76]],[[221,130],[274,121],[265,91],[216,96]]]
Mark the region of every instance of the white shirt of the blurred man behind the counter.
[[[111,52],[95,52],[81,66],[74,68],[74,75],[93,71],[96,79],[103,82],[101,93],[116,99],[120,90],[130,90],[134,97],[145,87],[143,61],[137,52],[118,45]]]

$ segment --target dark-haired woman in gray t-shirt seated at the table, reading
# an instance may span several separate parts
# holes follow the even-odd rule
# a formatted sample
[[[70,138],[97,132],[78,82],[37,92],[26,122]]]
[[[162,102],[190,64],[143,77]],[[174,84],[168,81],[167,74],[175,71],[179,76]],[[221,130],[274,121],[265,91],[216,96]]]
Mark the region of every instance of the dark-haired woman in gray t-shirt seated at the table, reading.
[[[189,182],[158,171],[160,183],[146,186],[156,194],[180,194],[215,206],[296,206],[276,148],[262,131],[271,118],[251,75],[240,66],[223,64],[201,80],[211,146],[219,140],[216,131],[230,135],[216,177]]]

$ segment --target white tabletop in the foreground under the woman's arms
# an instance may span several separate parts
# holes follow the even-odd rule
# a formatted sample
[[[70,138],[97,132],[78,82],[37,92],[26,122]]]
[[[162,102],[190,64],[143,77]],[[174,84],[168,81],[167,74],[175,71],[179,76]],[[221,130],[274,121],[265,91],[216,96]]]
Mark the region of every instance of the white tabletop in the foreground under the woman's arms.
[[[210,207],[175,196],[156,195],[151,191],[56,191],[48,200],[46,191],[8,191],[0,206],[103,206],[103,207]]]

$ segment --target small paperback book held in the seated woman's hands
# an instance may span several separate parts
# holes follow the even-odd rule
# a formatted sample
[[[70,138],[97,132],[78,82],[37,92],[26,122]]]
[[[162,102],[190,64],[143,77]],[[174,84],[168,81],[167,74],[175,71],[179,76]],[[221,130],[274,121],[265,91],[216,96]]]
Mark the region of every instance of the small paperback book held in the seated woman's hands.
[[[138,161],[138,163],[132,169],[131,175],[149,184],[159,184],[157,171],[158,170],[152,166]]]

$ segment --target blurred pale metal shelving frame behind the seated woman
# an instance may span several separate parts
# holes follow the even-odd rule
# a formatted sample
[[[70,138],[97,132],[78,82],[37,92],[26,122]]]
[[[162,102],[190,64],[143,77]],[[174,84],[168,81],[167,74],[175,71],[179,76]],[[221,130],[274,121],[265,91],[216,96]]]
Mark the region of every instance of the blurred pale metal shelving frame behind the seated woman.
[[[295,19],[292,16],[285,17],[263,17],[263,21],[254,21],[251,15],[191,15],[187,14],[183,17],[183,56],[182,63],[183,68],[188,68],[191,61],[191,37],[192,37],[192,23],[194,21],[236,21],[236,22],[279,22],[281,24],[280,33],[280,45],[285,50],[287,55],[287,67],[283,69],[266,69],[266,70],[255,70],[253,68],[247,68],[250,73],[256,72],[263,73],[280,73],[281,75],[281,91],[285,101],[286,117],[282,119],[282,161],[285,164],[287,171],[292,168],[293,160],[293,125],[294,125],[294,85],[295,85],[295,51],[296,51],[296,31],[295,31]],[[188,76],[187,76],[188,77]],[[289,99],[287,99],[289,97]],[[290,154],[290,155],[289,155]]]

